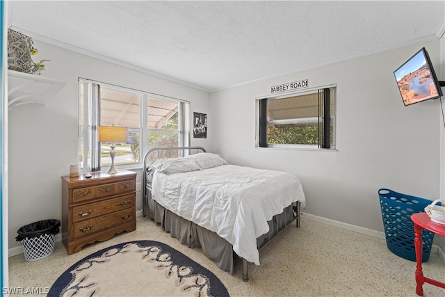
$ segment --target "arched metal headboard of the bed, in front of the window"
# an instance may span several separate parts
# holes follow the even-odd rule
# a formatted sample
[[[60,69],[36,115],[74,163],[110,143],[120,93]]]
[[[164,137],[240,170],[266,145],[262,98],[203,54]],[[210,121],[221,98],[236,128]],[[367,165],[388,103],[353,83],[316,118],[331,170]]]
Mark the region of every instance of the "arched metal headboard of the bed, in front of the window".
[[[198,154],[200,152],[206,152],[204,147],[154,147],[147,152],[144,156],[144,169],[143,169],[143,213],[146,214],[147,207],[147,166],[149,163],[159,159],[166,158],[178,158],[181,156],[187,156],[189,154]]]

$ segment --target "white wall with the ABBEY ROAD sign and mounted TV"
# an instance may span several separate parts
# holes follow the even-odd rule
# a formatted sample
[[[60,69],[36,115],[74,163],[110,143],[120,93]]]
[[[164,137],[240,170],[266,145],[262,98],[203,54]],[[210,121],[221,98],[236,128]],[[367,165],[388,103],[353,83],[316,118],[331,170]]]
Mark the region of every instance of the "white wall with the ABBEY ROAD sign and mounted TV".
[[[382,231],[379,188],[439,197],[439,100],[403,106],[393,75],[423,46],[439,67],[437,40],[211,93],[211,147],[229,163],[295,174],[308,214]],[[302,79],[337,83],[337,150],[255,148],[255,98]]]

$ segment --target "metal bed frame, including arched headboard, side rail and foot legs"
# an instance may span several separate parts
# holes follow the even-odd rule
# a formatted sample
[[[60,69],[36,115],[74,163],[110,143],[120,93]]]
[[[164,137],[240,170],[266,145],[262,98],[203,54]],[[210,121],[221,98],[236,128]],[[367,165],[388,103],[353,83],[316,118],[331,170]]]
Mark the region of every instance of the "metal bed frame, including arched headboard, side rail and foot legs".
[[[145,156],[144,156],[144,172],[143,172],[143,215],[146,216],[147,215],[147,208],[148,208],[148,198],[147,198],[147,166],[149,165],[148,163],[148,157],[149,155],[153,154],[154,152],[157,152],[157,159],[161,159],[161,152],[168,152],[168,158],[171,157],[171,152],[172,151],[178,151],[178,155],[179,156],[184,156],[184,152],[188,151],[188,154],[191,154],[193,152],[193,150],[195,150],[195,154],[197,154],[198,152],[206,152],[206,150],[204,149],[204,147],[200,147],[200,146],[193,146],[193,147],[154,147],[151,150],[149,150]],[[289,222],[289,224],[286,225],[286,227],[289,227],[289,225],[291,225],[293,220],[296,220],[296,227],[300,227],[300,211],[301,211],[301,205],[299,201],[296,201],[296,205],[293,206],[293,211],[296,212],[296,216],[293,216],[292,220]],[[278,234],[280,234],[281,232],[283,232],[284,229],[286,229],[286,227],[282,228],[282,230],[277,231],[277,233],[268,241],[266,241],[266,243],[264,243],[263,246],[261,246],[261,248],[259,248],[259,250],[262,250],[265,246],[268,245],[268,243],[270,243],[270,241],[275,238]],[[244,258],[243,259],[243,281],[247,282],[249,280],[249,273],[248,273],[248,261]]]

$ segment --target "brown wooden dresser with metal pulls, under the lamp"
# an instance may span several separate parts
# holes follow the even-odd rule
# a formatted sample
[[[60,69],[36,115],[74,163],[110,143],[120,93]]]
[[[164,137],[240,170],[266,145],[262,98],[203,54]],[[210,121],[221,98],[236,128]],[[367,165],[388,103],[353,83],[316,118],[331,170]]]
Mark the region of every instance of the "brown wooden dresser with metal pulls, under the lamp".
[[[136,172],[62,177],[62,241],[68,254],[136,230]]]

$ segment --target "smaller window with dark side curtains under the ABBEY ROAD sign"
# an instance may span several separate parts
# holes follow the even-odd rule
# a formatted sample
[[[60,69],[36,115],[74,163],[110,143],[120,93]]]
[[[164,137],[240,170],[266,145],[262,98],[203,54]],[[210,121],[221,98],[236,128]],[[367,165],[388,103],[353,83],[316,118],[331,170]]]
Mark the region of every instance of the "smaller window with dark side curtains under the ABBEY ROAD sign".
[[[335,90],[257,99],[257,147],[335,148]]]

